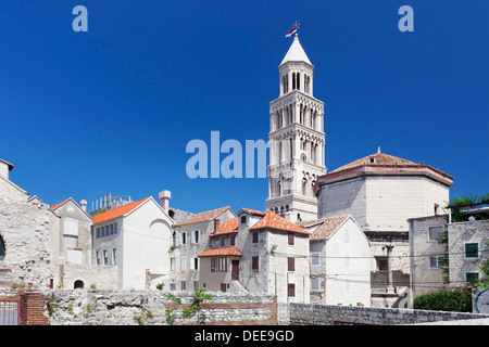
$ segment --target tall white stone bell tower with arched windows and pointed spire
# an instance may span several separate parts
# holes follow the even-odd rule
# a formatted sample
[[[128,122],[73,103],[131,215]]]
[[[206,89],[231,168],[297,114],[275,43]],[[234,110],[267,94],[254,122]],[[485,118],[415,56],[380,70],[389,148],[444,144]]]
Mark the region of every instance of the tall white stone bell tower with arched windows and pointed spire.
[[[279,97],[269,103],[267,210],[294,222],[317,218],[314,184],[326,174],[324,103],[313,97],[314,66],[293,37],[278,66]]]

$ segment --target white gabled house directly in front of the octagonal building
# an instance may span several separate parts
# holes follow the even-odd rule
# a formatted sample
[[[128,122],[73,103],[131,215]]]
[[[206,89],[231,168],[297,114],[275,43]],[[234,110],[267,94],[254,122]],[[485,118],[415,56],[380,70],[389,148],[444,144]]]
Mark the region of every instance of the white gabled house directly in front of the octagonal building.
[[[310,237],[311,303],[371,306],[374,257],[351,215],[297,222]]]

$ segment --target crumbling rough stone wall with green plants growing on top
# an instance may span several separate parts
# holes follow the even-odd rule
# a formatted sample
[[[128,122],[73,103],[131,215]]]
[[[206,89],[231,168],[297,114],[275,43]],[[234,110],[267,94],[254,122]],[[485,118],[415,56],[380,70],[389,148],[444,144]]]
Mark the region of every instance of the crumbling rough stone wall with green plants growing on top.
[[[162,291],[43,291],[45,314],[50,325],[165,325],[166,310],[174,310],[174,324],[197,324],[197,317],[183,318],[181,308],[192,303],[190,292],[172,292],[176,305]],[[204,324],[275,324],[277,305],[273,296],[212,293],[201,304]]]

